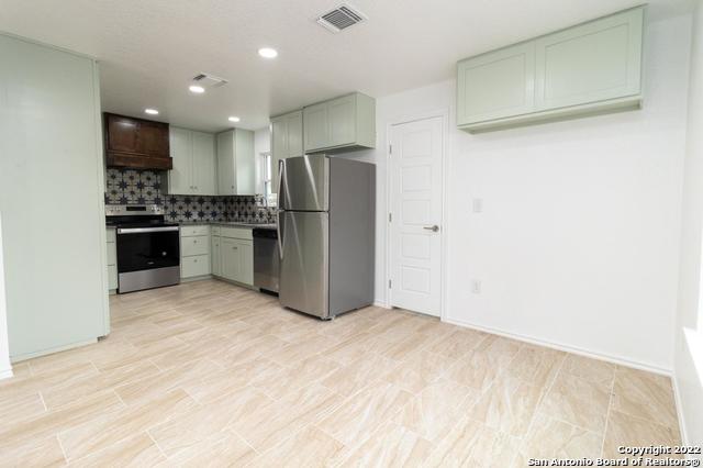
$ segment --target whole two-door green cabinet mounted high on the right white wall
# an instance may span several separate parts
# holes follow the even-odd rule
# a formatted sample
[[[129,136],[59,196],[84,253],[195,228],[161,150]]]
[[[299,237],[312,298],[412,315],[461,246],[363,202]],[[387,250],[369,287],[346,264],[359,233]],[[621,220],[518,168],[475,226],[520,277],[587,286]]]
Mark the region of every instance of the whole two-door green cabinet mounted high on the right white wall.
[[[457,64],[457,126],[479,132],[641,105],[644,7]]]

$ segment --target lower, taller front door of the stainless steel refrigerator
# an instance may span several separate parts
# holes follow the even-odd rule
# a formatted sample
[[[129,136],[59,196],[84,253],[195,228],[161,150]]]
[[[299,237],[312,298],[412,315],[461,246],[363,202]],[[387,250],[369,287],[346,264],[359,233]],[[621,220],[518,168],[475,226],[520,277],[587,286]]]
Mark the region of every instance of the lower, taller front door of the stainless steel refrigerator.
[[[326,212],[279,213],[281,305],[326,319],[330,315],[330,215]]]

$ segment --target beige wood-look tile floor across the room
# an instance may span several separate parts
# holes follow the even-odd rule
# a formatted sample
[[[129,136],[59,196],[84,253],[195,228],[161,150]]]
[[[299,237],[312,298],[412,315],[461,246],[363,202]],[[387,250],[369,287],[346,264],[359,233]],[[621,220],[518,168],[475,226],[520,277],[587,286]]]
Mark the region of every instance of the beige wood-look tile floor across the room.
[[[0,381],[0,466],[521,467],[676,445],[668,378],[208,280],[111,298],[98,344]]]

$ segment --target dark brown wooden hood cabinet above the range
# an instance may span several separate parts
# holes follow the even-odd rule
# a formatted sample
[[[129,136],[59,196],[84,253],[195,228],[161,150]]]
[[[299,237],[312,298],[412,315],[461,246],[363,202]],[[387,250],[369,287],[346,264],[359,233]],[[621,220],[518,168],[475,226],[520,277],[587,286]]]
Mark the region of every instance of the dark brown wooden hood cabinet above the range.
[[[104,113],[108,167],[172,169],[168,124]]]

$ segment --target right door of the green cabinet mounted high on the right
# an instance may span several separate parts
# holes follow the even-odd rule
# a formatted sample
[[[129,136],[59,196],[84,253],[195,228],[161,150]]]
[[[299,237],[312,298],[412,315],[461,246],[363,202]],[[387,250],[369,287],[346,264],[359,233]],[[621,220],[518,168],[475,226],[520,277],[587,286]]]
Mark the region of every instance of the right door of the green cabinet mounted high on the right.
[[[644,11],[629,10],[536,41],[536,107],[640,93]]]

